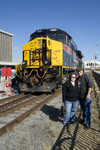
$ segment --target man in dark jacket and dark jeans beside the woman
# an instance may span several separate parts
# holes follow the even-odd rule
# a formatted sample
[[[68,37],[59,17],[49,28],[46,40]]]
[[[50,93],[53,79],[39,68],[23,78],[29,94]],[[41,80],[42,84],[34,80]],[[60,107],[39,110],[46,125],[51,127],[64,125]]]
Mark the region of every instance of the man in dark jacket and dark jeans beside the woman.
[[[78,70],[78,75],[79,101],[83,111],[83,120],[80,123],[85,125],[84,129],[89,129],[91,126],[92,81],[83,69]]]

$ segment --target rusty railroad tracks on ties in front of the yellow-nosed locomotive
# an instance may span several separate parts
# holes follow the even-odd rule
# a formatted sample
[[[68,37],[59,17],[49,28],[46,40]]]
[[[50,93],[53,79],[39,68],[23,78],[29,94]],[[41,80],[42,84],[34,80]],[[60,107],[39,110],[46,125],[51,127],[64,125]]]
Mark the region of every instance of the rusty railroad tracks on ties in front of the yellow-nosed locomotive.
[[[40,110],[61,93],[61,88],[53,94],[33,96],[20,94],[0,101],[0,136],[9,132],[30,114]]]

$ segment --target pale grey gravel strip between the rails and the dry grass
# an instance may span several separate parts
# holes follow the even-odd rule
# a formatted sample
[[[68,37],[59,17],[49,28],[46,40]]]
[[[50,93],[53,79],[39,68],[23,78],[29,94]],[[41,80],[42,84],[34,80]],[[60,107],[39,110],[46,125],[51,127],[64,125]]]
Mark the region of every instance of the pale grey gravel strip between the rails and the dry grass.
[[[63,126],[58,119],[61,100],[60,95],[0,137],[0,150],[51,149]]]

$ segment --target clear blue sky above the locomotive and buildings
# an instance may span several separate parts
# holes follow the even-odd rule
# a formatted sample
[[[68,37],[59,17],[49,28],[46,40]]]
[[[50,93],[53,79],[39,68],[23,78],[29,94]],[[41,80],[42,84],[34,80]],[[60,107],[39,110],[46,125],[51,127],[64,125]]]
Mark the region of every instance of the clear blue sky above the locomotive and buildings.
[[[14,34],[13,62],[30,34],[42,28],[70,34],[83,61],[93,59],[94,50],[100,60],[100,0],[0,0],[0,29]]]

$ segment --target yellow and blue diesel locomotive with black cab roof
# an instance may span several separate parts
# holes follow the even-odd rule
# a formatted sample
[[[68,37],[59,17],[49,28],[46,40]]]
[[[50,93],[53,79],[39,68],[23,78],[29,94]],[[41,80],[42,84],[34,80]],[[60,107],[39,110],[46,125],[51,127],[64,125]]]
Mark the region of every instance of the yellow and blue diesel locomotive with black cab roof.
[[[16,66],[21,91],[50,92],[71,71],[82,68],[82,53],[72,37],[57,28],[37,30],[23,45],[23,61]]]

